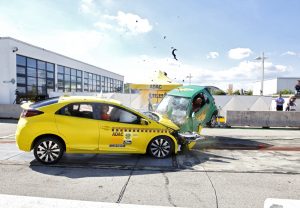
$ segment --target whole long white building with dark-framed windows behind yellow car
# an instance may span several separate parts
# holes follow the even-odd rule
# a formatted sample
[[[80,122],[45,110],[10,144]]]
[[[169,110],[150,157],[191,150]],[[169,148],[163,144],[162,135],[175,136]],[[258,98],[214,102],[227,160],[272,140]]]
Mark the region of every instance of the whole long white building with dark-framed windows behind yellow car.
[[[0,104],[52,92],[123,92],[124,76],[10,38],[0,37]],[[18,96],[16,96],[16,94]]]

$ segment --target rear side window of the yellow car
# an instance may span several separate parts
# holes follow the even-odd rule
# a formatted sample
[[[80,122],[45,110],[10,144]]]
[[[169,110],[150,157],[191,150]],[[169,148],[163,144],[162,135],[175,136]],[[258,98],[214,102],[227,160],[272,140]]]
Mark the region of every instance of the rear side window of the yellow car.
[[[93,104],[90,103],[73,103],[59,110],[58,114],[65,116],[94,118]]]

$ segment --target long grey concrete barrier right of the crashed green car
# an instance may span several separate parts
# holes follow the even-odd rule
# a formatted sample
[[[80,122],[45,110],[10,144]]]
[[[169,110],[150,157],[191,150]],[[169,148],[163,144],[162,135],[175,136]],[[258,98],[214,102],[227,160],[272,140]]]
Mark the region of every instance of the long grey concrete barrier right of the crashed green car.
[[[228,126],[300,127],[300,112],[227,111]]]

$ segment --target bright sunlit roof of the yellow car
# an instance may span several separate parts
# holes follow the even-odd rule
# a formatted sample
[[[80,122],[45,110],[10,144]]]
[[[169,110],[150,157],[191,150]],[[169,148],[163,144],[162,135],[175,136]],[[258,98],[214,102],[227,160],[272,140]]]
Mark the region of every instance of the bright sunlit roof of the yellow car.
[[[103,102],[116,105],[122,104],[120,101],[114,99],[106,99],[97,96],[61,96],[59,97],[58,102]]]

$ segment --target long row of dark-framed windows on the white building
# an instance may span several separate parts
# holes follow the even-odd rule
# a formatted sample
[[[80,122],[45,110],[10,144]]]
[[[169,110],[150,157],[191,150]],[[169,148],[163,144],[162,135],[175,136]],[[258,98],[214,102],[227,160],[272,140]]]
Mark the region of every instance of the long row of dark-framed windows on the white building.
[[[55,90],[55,65],[53,63],[21,55],[17,55],[16,61],[18,93],[47,95]],[[57,65],[57,87],[59,92],[121,92],[123,82]]]

